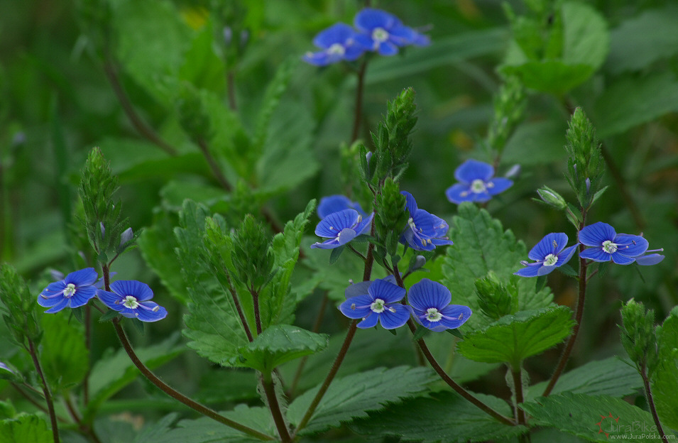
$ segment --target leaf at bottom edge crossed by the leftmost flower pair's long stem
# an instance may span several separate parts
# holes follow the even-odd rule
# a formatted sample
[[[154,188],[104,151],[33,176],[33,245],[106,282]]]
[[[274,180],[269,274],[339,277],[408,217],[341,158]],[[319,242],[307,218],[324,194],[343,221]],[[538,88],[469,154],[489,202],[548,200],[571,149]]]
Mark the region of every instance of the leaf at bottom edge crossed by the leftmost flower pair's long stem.
[[[273,419],[268,408],[250,408],[238,405],[232,411],[220,411],[220,414],[241,423],[253,430],[278,439]],[[197,420],[181,420],[172,430],[160,430],[154,433],[155,439],[144,440],[144,443],[261,443],[261,439],[249,437],[231,427],[222,425],[211,418],[202,417]]]

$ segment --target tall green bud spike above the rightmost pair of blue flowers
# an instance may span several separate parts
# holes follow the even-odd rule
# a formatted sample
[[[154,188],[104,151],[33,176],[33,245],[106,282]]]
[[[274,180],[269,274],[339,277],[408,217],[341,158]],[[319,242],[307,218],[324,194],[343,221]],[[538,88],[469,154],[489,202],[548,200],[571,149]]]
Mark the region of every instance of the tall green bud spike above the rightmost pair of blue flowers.
[[[565,177],[581,207],[589,209],[605,190],[601,189],[603,155],[594,126],[581,108],[575,109],[572,114],[566,138],[565,149],[569,158]]]

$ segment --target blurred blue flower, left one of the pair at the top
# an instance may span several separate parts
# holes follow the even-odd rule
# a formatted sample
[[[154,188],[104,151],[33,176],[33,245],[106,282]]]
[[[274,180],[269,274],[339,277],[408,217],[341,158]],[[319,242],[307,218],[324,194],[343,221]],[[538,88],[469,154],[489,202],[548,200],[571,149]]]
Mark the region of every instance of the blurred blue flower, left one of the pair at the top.
[[[317,53],[306,53],[303,60],[311,65],[326,66],[341,60],[353,61],[365,52],[366,48],[356,42],[358,33],[346,23],[337,23],[320,31],[313,44],[322,49]]]

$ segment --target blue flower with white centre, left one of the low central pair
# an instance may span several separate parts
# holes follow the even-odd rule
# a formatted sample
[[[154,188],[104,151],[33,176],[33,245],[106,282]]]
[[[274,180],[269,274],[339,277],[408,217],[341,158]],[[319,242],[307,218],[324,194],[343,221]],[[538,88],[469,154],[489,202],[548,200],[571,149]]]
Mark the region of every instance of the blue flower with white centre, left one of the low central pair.
[[[339,305],[342,314],[351,319],[363,319],[361,329],[381,322],[384,329],[403,326],[410,318],[410,310],[400,303],[405,289],[388,280],[356,283],[346,289],[346,301]]]

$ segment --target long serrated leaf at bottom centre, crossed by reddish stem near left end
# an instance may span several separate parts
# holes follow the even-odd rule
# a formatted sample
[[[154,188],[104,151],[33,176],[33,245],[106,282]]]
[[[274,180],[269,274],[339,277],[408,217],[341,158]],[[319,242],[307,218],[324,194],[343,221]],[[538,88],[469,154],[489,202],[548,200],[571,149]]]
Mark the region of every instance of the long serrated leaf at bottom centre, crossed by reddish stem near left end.
[[[393,403],[422,392],[428,383],[434,380],[429,368],[376,368],[337,378],[320,400],[301,433],[312,434],[338,427],[342,422],[350,422],[357,417],[366,417],[367,411],[379,410],[386,403]],[[290,404],[288,419],[292,425],[298,425],[308,406],[318,392],[318,388],[308,390]]]

